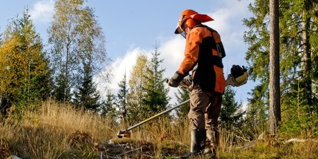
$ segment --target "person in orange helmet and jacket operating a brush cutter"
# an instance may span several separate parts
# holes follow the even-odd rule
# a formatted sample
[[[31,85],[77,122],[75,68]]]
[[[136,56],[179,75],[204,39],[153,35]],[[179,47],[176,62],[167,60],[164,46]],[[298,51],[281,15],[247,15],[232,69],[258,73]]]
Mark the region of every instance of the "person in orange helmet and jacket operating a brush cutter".
[[[181,13],[175,30],[175,34],[186,38],[186,46],[184,59],[167,84],[179,86],[189,71],[192,71],[193,78],[188,114],[191,122],[191,151],[182,158],[203,152],[216,155],[218,146],[218,117],[225,90],[222,63],[225,50],[216,30],[201,24],[211,20],[213,18],[210,16],[187,9]]]

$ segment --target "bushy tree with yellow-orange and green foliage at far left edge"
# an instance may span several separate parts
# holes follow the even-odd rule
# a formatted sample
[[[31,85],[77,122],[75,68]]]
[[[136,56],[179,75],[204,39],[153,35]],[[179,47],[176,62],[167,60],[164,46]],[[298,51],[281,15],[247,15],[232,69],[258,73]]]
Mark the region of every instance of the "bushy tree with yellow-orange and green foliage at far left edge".
[[[49,61],[28,8],[7,25],[0,55],[1,110],[15,105],[21,111],[49,98]]]

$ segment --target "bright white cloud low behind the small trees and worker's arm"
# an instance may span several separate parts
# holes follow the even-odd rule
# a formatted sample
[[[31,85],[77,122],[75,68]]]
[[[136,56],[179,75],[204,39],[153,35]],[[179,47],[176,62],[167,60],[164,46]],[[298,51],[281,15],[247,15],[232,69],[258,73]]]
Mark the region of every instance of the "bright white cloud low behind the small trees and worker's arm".
[[[160,46],[158,48],[158,52],[160,52],[159,59],[164,59],[163,63],[160,64],[160,69],[165,69],[165,73],[163,78],[170,78],[177,69],[179,69],[179,64],[183,59],[183,51],[184,51],[185,41],[183,37],[175,36],[170,40],[160,40]],[[110,84],[104,85],[103,83],[100,84],[98,90],[105,93],[105,87],[113,90],[113,93],[117,93],[119,90],[118,83],[122,81],[124,78],[124,73],[126,71],[126,79],[129,80],[131,74],[131,68],[136,64],[136,56],[137,54],[144,52],[148,58],[151,58],[151,52],[154,52],[154,49],[145,50],[139,47],[131,48],[129,51],[126,52],[124,57],[117,58],[112,63],[112,80]],[[177,88],[170,88],[169,96],[172,98],[170,103],[175,103],[175,91]],[[102,96],[105,96],[102,95]]]

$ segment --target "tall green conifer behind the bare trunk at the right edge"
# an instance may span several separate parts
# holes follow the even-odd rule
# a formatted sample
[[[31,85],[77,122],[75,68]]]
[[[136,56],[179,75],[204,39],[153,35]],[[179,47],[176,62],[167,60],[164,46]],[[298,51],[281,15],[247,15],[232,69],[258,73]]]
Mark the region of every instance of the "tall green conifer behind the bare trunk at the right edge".
[[[279,61],[282,110],[292,109],[286,101],[297,98],[293,93],[298,86],[303,88],[300,101],[307,107],[308,119],[317,114],[317,92],[312,83],[317,72],[317,51],[313,44],[317,44],[317,1],[280,1],[279,2]],[[245,42],[249,44],[246,59],[249,63],[249,75],[252,79],[263,84],[269,83],[269,3],[257,0],[249,5],[254,17],[245,19],[244,23],[250,28],[245,33]],[[313,55],[313,57],[312,57]],[[277,59],[277,57],[276,57]],[[314,65],[313,65],[314,64]],[[316,73],[317,74],[317,73]],[[302,81],[298,85],[298,78]],[[277,89],[276,89],[277,90]],[[300,89],[302,90],[302,89]],[[283,115],[283,114],[282,114]],[[287,121],[286,121],[287,122]]]

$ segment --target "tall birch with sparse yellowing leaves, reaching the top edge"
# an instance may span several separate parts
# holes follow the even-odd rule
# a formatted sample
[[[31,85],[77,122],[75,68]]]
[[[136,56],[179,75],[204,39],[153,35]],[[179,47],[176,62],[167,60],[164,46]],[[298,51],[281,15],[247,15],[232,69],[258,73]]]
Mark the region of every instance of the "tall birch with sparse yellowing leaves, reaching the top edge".
[[[83,0],[59,0],[54,9],[54,20],[48,29],[55,71],[54,93],[57,100],[70,102],[71,90],[75,90],[78,80],[88,78],[83,77],[85,75],[96,75],[110,59],[107,59],[105,37],[92,8],[84,7]],[[91,72],[80,74],[86,71]]]

